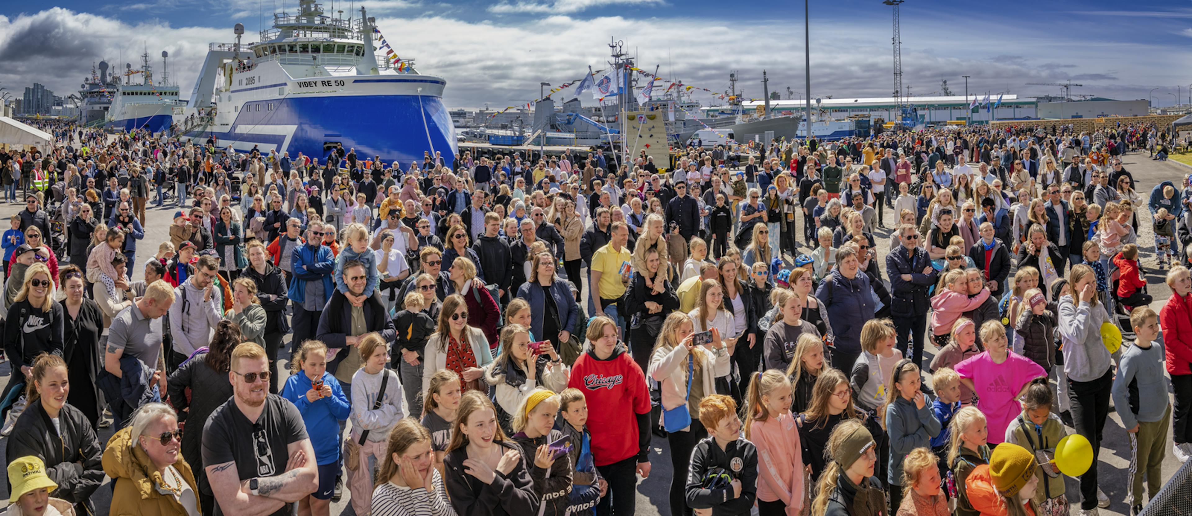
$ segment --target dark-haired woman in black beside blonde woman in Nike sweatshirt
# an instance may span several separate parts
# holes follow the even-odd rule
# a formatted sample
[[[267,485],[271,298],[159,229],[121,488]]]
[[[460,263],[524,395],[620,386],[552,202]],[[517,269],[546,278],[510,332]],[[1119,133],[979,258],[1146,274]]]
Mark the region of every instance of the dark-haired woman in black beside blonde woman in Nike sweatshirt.
[[[62,358],[69,366],[72,384],[95,385],[103,371],[99,336],[104,332],[104,313],[99,304],[83,297],[86,282],[77,266],[63,267],[61,281],[66,292],[66,299],[62,301],[64,316]],[[99,423],[99,399],[94,388],[75,388],[68,400],[83,412],[92,427]]]

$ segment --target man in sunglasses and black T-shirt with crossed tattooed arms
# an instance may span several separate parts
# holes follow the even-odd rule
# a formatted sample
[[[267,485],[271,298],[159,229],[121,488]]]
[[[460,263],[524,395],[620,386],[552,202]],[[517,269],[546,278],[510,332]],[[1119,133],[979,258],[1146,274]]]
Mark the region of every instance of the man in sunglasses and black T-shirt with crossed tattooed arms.
[[[269,393],[269,360],[259,344],[231,353],[232,397],[203,431],[203,465],[216,497],[216,515],[291,514],[315,492],[318,465],[298,408]],[[329,436],[322,436],[329,439]]]

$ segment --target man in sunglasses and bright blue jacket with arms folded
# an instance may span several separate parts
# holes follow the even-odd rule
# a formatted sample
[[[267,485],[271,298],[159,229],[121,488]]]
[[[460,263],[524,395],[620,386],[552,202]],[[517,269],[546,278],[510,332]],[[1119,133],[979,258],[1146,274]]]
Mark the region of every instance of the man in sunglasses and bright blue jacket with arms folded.
[[[306,240],[291,253],[290,290],[286,292],[293,301],[293,353],[302,343],[315,338],[319,311],[327,305],[335,290],[331,273],[335,271],[335,256],[331,248],[323,245],[327,225],[322,220],[311,220],[306,226]],[[297,228],[294,228],[297,231]],[[283,267],[284,268],[284,267]],[[361,292],[364,292],[361,290]]]

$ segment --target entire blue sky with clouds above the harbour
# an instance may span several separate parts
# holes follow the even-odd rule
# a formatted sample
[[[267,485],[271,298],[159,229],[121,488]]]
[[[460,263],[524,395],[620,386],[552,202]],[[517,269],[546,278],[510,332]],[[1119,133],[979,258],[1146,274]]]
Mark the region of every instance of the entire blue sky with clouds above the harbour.
[[[52,7],[49,7],[52,5]],[[538,97],[539,81],[578,77],[601,68],[610,37],[637,52],[641,68],[710,89],[728,87],[730,70],[745,95],[803,91],[802,2],[778,0],[373,0],[358,1],[399,55],[422,73],[442,76],[452,107],[504,107]],[[726,5],[728,7],[726,7]],[[37,81],[77,88],[93,62],[132,62],[148,45],[173,56],[172,76],[188,97],[209,42],[231,41],[240,21],[249,35],[297,0],[107,0],[2,2],[0,86]],[[904,85],[938,94],[946,79],[969,91],[1057,94],[1026,82],[1064,82],[1074,94],[1144,99],[1172,105],[1177,85],[1192,83],[1190,1],[945,2],[909,0],[902,13]],[[1129,7],[1128,7],[1129,6]],[[260,11],[259,11],[260,7]],[[331,11],[330,2],[324,7]],[[349,1],[335,10],[352,12]],[[813,1],[812,95],[888,97],[892,92],[890,7],[880,0]],[[255,39],[252,38],[250,39]],[[160,66],[160,63],[159,63]],[[712,99],[707,99],[712,100]],[[706,101],[707,104],[707,101]]]

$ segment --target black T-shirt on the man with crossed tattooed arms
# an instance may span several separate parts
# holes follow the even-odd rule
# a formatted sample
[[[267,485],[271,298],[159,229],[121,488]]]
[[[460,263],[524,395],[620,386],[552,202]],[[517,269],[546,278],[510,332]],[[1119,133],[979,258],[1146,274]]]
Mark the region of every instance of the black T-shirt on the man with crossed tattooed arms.
[[[261,417],[254,423],[244,417],[232,398],[211,412],[203,427],[203,467],[235,461],[241,481],[278,475],[285,473],[290,443],[304,439],[308,439],[306,425],[290,400],[269,394],[265,398]],[[215,514],[223,514],[218,503]],[[273,516],[288,514],[290,504],[286,504]]]

